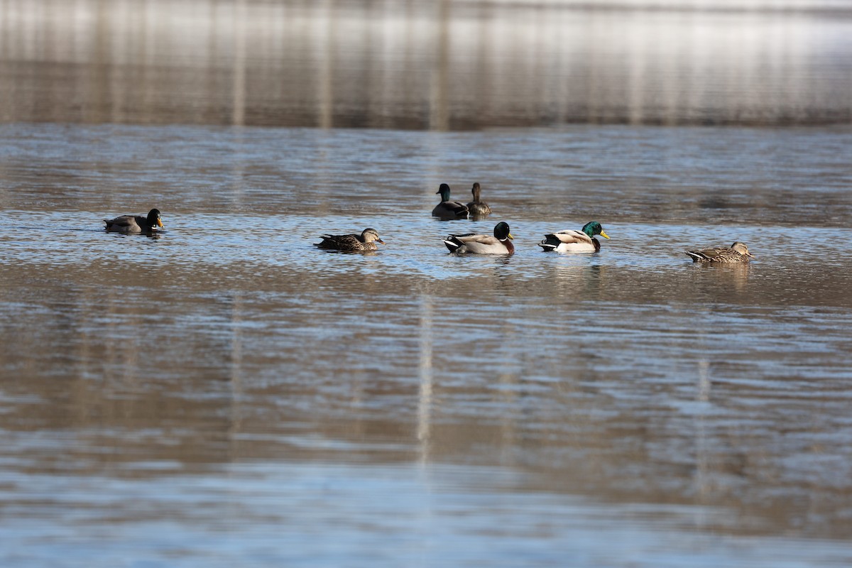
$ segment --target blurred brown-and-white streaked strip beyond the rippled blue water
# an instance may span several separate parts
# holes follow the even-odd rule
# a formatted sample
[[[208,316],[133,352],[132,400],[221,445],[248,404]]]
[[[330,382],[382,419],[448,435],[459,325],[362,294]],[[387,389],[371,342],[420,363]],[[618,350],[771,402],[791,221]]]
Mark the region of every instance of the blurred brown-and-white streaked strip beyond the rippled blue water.
[[[481,129],[852,119],[838,0],[0,0],[0,120]]]

